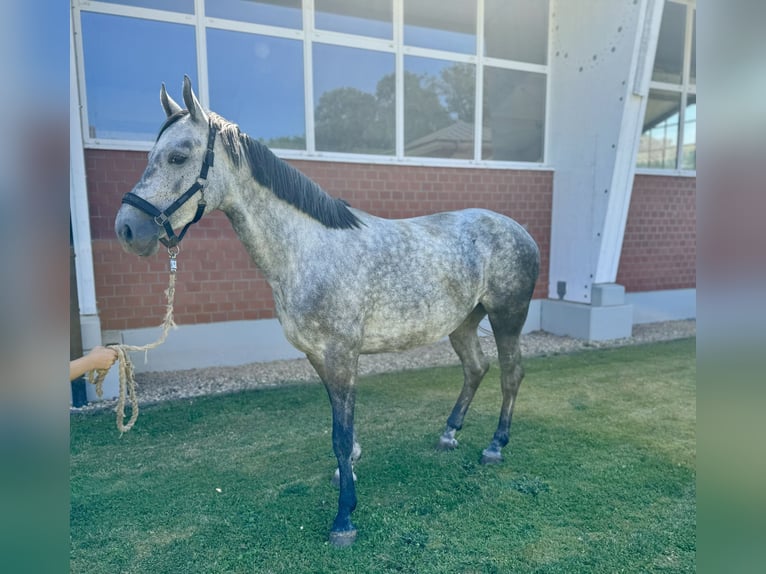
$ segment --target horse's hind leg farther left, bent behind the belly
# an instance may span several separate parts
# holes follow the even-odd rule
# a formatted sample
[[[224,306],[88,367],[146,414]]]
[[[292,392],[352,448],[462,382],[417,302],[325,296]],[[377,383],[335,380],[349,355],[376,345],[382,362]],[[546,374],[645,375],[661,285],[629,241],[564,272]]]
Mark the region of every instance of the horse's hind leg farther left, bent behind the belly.
[[[439,448],[442,450],[452,450],[457,447],[458,442],[455,434],[463,427],[463,419],[468,412],[468,407],[471,405],[481,380],[489,370],[489,361],[481,350],[477,333],[479,323],[486,314],[484,307],[478,305],[460,327],[449,336],[452,348],[455,349],[460,362],[463,364],[463,389],[452,409],[452,414],[447,419],[447,426],[439,438]]]

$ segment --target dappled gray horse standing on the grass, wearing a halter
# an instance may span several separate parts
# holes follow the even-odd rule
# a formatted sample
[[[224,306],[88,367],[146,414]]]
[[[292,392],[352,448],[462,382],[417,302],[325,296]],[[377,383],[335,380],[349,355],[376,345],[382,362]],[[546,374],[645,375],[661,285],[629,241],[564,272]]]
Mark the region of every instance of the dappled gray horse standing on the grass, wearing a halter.
[[[126,251],[148,256],[159,242],[175,248],[205,213],[220,209],[229,218],[271,285],[287,339],[306,353],[330,397],[340,487],[330,541],[347,546],[356,538],[352,465],[361,453],[354,433],[360,354],[449,336],[464,383],[439,445],[453,449],[489,368],[477,334],[488,315],[503,403],[482,462],[500,462],[524,376],[519,336],[539,269],[539,250],[524,228],[483,209],[375,217],[331,197],[235,124],[203,110],[188,77],[186,109],[164,85],[160,100],[167,120],[141,180],[123,198],[117,236]]]

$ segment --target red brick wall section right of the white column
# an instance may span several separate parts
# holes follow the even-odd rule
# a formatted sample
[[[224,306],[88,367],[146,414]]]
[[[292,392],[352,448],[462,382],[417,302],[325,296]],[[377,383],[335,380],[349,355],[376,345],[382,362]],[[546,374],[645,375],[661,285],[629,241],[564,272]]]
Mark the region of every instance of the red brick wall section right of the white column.
[[[696,178],[636,176],[617,272],[626,291],[696,287],[696,190]]]

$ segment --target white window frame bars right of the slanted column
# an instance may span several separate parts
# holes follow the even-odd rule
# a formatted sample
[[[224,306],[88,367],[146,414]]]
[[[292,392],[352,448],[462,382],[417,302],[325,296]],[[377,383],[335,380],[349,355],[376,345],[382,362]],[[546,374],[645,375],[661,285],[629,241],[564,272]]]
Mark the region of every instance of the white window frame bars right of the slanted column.
[[[683,157],[684,146],[684,125],[686,120],[686,104],[690,94],[697,95],[697,84],[689,81],[692,62],[692,30],[694,29],[694,15],[697,11],[696,0],[664,0],[666,5],[669,2],[681,4],[686,7],[686,27],[684,29],[684,59],[681,71],[681,83],[671,84],[668,82],[650,81],[650,90],[659,90],[662,92],[672,92],[681,95],[681,110],[678,114],[678,143],[676,145],[676,165],[674,168],[649,168],[636,167],[636,173],[640,175],[680,175],[686,177],[697,177],[696,169],[682,169],[681,159]]]

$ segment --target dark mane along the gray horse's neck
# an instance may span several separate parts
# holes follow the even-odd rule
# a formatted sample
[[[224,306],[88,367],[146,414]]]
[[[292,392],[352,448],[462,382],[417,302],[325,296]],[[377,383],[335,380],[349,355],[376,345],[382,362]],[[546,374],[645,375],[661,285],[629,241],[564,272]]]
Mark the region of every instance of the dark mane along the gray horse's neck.
[[[241,132],[236,124],[218,114],[209,112],[209,115],[234,164],[239,166],[243,160],[246,161],[256,181],[270,189],[279,199],[326,227],[350,229],[362,225],[344,200],[330,196],[317,183],[279,159],[265,145]],[[172,121],[173,116],[163,127],[167,127]]]

